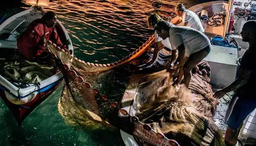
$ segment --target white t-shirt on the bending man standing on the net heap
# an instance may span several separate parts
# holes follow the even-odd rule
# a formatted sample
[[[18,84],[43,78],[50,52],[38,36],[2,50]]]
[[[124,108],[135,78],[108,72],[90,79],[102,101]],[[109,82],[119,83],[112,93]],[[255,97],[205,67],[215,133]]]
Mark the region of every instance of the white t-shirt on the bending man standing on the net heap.
[[[177,49],[178,46],[184,44],[185,56],[196,53],[208,45],[211,45],[210,40],[202,32],[186,26],[176,26],[169,30],[170,42],[172,48]]]

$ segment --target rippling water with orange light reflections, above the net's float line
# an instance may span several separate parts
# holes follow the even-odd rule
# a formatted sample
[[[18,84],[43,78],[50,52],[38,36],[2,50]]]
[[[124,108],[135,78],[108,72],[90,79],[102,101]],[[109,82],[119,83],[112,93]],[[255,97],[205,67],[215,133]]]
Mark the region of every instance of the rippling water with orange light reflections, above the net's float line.
[[[174,17],[174,5],[179,2],[185,7],[196,4],[196,0],[56,0],[44,8],[56,12],[68,30],[75,55],[88,62],[97,58],[105,64],[138,49],[153,34],[147,28],[147,17],[151,13],[164,19]]]

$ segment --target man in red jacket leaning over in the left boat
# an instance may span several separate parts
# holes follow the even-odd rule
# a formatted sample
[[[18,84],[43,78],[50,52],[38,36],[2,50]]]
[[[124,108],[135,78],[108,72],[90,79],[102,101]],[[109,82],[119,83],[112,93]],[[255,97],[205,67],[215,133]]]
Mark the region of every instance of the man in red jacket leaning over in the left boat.
[[[26,31],[18,38],[17,46],[19,51],[26,58],[39,61],[40,58],[44,58],[46,55],[44,53],[46,40],[50,40],[61,49],[67,50],[55,30],[54,25],[56,22],[57,16],[54,12],[46,12],[41,19],[31,22]]]

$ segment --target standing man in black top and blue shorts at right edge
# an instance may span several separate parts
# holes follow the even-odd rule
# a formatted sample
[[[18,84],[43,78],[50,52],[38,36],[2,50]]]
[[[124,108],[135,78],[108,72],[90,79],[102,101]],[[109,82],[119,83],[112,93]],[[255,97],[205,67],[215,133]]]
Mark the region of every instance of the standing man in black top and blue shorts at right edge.
[[[247,21],[242,28],[242,41],[249,43],[241,58],[240,74],[229,86],[215,92],[214,97],[220,99],[227,92],[235,91],[226,112],[227,124],[225,143],[236,145],[240,126],[243,120],[256,108],[256,21]]]

